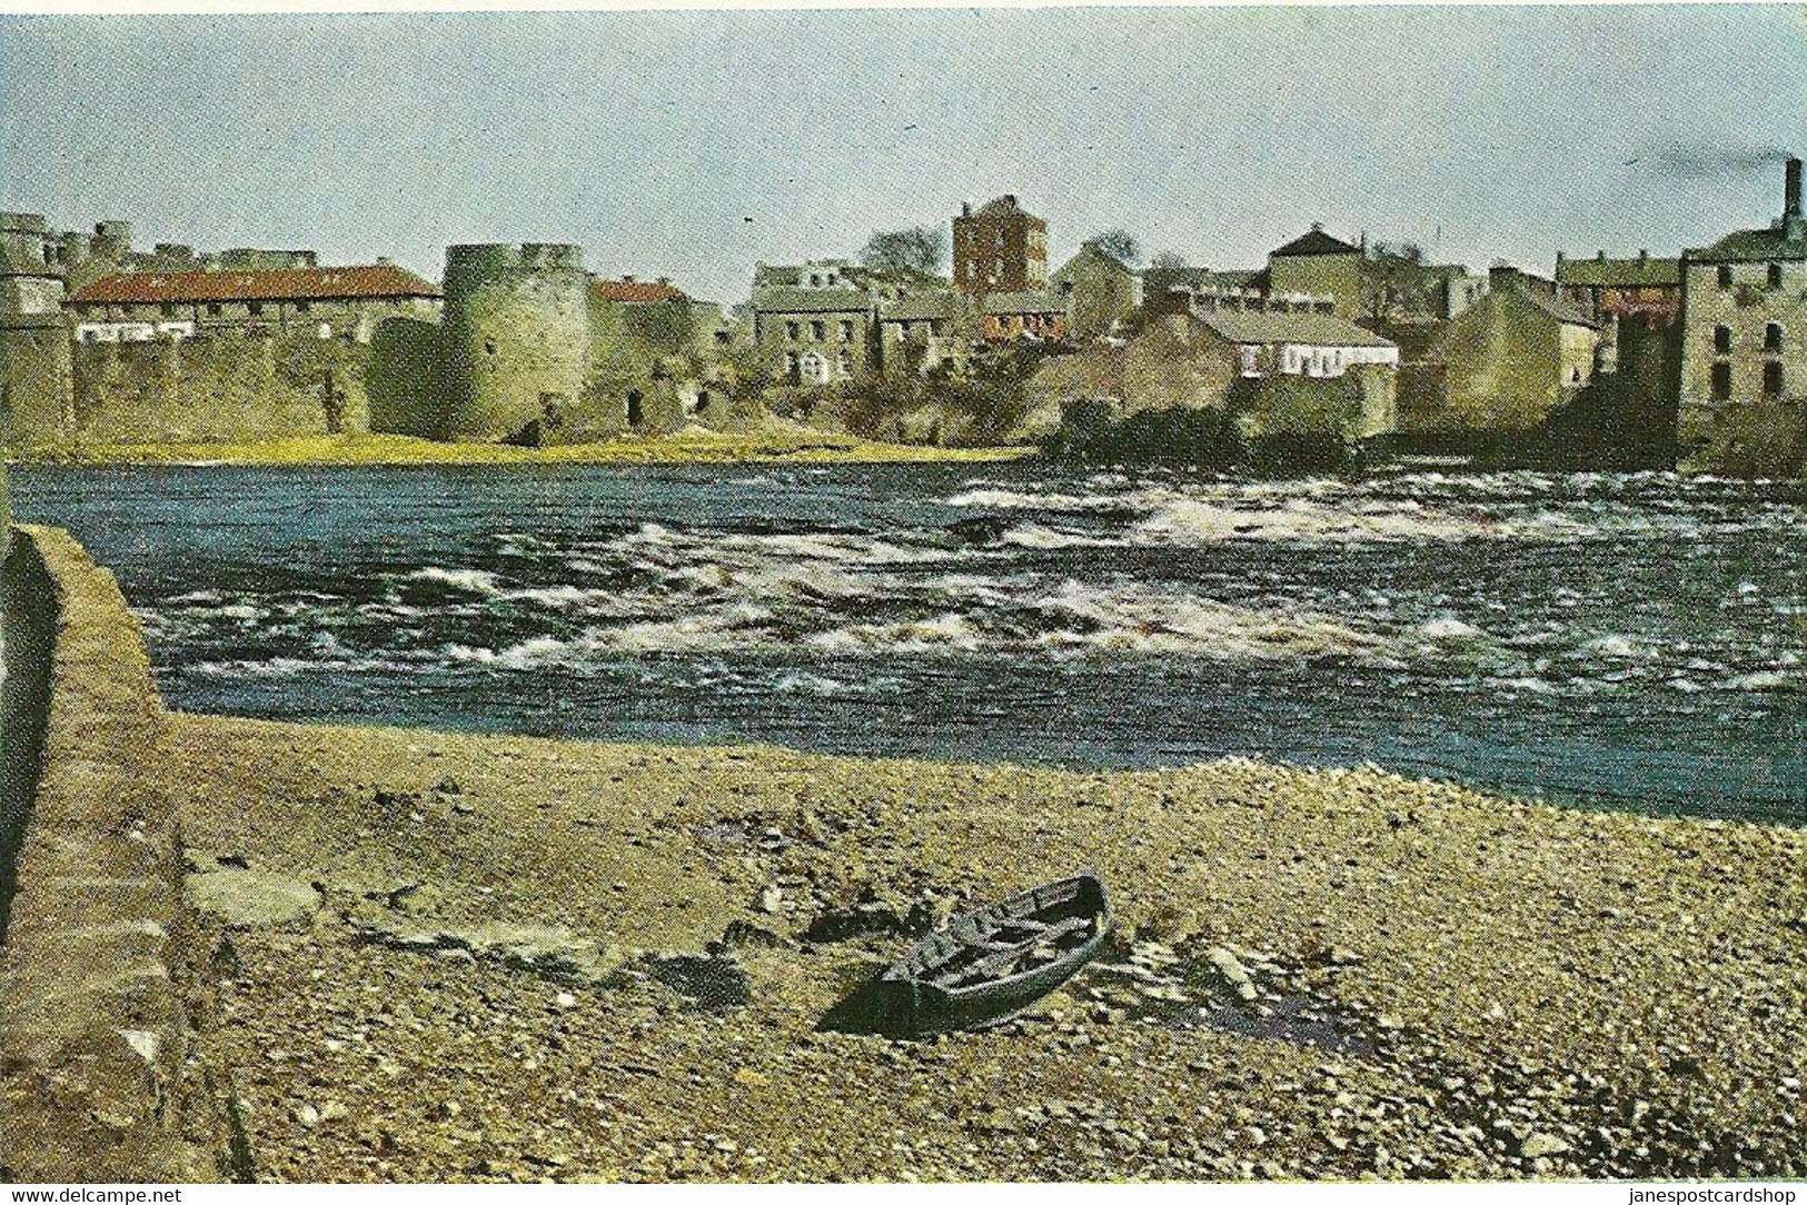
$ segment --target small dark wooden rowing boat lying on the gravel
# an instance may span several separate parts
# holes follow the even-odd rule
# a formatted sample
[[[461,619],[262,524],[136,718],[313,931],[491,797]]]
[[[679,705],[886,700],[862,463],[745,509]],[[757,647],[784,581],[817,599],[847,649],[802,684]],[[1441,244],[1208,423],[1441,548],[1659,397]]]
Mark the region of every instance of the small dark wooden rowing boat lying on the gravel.
[[[878,1028],[922,1037],[1008,1021],[1072,979],[1109,934],[1111,900],[1090,871],[963,912],[878,976]]]

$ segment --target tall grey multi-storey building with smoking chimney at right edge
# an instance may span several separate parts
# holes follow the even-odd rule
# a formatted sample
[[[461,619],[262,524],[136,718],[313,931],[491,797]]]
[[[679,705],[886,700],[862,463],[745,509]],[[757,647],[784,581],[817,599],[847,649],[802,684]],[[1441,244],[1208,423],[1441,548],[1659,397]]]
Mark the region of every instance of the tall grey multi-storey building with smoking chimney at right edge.
[[[1682,251],[1679,450],[1718,472],[1798,473],[1807,448],[1807,217],[1789,159],[1782,217]]]

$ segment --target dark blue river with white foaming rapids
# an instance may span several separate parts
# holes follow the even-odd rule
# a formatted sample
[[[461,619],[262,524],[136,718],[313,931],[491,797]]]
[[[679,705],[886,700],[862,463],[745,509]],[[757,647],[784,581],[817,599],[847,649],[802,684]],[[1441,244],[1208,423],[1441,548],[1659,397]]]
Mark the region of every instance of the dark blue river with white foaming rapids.
[[[181,708],[1807,818],[1807,490],[1030,466],[20,470]]]

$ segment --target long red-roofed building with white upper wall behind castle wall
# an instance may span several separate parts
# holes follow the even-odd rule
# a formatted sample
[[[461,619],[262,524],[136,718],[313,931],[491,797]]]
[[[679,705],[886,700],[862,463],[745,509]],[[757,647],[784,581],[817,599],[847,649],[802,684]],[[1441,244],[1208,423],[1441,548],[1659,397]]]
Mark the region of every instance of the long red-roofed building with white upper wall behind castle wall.
[[[379,262],[358,267],[117,273],[63,304],[76,343],[307,331],[369,343],[387,318],[437,320],[439,287]]]

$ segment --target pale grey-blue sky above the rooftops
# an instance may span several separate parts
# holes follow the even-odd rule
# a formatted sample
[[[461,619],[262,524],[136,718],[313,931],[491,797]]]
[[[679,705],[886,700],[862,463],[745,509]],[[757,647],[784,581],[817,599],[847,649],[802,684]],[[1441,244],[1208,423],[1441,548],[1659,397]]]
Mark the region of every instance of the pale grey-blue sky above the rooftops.
[[[1017,193],[1256,267],[1312,222],[1438,262],[1673,255],[1780,211],[1798,7],[0,16],[0,208],[379,255],[578,242],[744,300]]]

